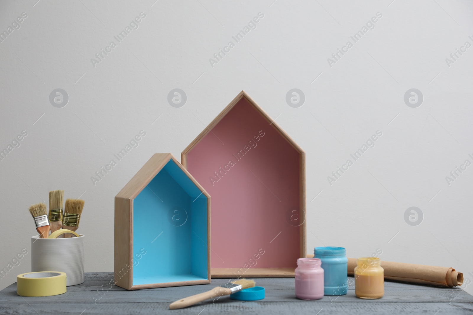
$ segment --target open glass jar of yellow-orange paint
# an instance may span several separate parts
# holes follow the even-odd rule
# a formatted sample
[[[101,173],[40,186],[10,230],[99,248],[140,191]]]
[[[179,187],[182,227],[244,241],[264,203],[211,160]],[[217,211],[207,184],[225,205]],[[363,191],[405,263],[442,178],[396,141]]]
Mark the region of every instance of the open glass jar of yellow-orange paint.
[[[381,259],[362,257],[356,260],[355,295],[359,298],[382,298],[384,295],[384,269]]]

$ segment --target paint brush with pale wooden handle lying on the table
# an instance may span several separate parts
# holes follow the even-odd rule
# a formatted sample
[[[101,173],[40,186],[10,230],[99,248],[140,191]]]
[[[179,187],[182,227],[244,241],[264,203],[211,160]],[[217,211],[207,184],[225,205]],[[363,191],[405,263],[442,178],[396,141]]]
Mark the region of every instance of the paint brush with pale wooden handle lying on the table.
[[[188,298],[181,298],[169,305],[170,309],[184,308],[205,301],[210,298],[222,297],[232,293],[241,291],[243,289],[253,288],[256,283],[254,280],[240,279],[226,283],[221,287],[215,287],[210,291],[199,293]]]

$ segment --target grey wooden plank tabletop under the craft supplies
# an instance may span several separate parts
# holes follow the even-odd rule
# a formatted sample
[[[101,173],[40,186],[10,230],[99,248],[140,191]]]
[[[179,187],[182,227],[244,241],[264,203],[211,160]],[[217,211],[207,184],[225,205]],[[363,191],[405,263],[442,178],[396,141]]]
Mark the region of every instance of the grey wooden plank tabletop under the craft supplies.
[[[169,303],[226,283],[127,291],[107,285],[112,272],[87,272],[82,284],[67,287],[67,292],[44,298],[19,297],[13,283],[0,291],[0,314],[473,314],[473,297],[462,289],[445,289],[414,284],[385,282],[385,296],[363,300],[355,296],[353,278],[348,294],[302,301],[294,295],[294,279],[255,279],[266,288],[266,298],[254,302],[228,297],[212,303],[169,310]]]

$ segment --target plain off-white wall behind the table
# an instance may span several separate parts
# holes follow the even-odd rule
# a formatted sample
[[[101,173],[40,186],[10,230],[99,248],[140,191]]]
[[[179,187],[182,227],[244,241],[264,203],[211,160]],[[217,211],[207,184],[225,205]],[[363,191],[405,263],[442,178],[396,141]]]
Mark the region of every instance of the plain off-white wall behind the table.
[[[473,166],[446,180],[473,162],[473,48],[446,62],[473,44],[470,1],[36,1],[0,3],[0,31],[28,15],[0,43],[0,149],[28,133],[0,161],[1,268],[30,249],[28,206],[64,189],[86,200],[86,271],[112,271],[114,196],[153,153],[179,158],[245,90],[306,150],[307,252],[381,248],[381,259],[451,266],[473,280]],[[139,28],[94,67],[140,12]],[[256,29],[212,67],[209,58],[258,12]],[[375,28],[354,43],[350,35],[377,12]],[[330,67],[347,41],[353,47]],[[49,102],[56,88],[70,97],[63,108]],[[187,95],[182,108],[167,102],[175,88]],[[292,88],[305,94],[299,108],[286,103]],[[411,88],[423,94],[420,107],[404,103]],[[139,146],[94,186],[91,176],[140,130]],[[376,145],[330,185],[377,130]],[[423,213],[420,225],[404,221],[411,206]],[[0,289],[29,271],[28,254]]]

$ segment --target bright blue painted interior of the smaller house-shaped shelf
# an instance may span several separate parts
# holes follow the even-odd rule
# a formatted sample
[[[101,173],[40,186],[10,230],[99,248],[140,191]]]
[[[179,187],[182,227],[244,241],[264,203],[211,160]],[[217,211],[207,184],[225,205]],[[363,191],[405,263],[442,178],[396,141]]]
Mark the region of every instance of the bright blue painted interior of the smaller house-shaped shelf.
[[[133,200],[132,263],[133,285],[208,280],[207,197],[172,159]]]

